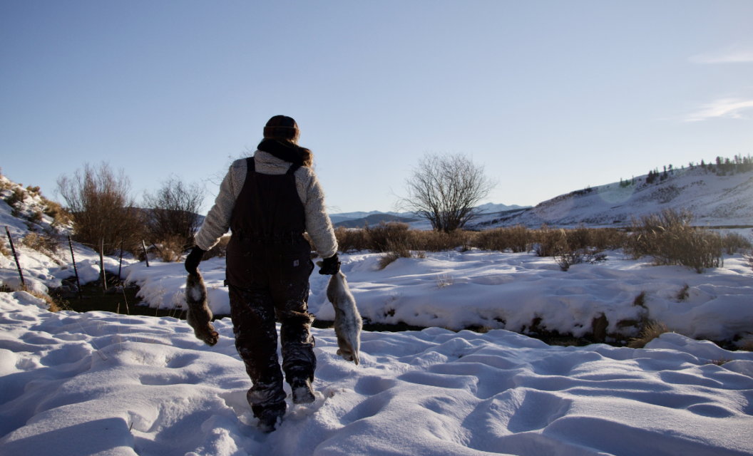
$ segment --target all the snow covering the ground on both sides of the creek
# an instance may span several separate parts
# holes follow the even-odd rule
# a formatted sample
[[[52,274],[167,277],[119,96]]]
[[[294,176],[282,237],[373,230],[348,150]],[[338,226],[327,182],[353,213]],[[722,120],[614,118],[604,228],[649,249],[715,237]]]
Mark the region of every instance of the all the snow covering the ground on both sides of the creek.
[[[26,214],[39,204],[29,196],[18,208]],[[14,240],[29,232],[5,202],[0,222]],[[82,281],[95,280],[99,255],[74,249]],[[37,291],[72,276],[65,250],[50,257],[18,242],[17,251]],[[312,329],[316,401],[289,403],[271,434],[256,429],[245,400],[251,382],[229,318],[215,321],[220,339],[209,347],[175,318],[50,313],[29,293],[0,293],[0,454],[753,453],[753,353],[687,337],[753,330],[753,271],[744,258],[726,255],[724,268],[699,275],[607,254],[568,272],[526,253],[426,253],[381,271],[379,254],[343,254],[364,317],[429,328],[364,331],[358,366],[337,355],[334,330]],[[123,263],[148,305],[184,306],[182,263]],[[0,256],[0,266],[2,284],[17,290],[12,257]],[[105,257],[108,272],[117,267]],[[212,311],[229,313],[224,259],[200,270]],[[333,320],[327,281],[314,272],[309,306]],[[641,292],[645,307],[634,305]],[[676,333],[636,350],[552,347],[509,331],[529,330],[538,318],[541,329],[580,336],[601,315],[609,333],[634,335],[624,323],[641,318]],[[444,329],[468,326],[490,330]]]

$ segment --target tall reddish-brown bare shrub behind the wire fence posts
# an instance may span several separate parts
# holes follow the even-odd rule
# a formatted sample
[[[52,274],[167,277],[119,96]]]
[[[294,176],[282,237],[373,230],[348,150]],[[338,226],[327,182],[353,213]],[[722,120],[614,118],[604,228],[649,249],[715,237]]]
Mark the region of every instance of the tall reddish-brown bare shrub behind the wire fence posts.
[[[117,251],[121,241],[136,251],[144,220],[129,196],[130,181],[122,169],[116,174],[108,163],[96,168],[86,163],[72,177],[60,176],[57,187],[72,214],[76,241],[99,251],[104,239],[105,254]]]

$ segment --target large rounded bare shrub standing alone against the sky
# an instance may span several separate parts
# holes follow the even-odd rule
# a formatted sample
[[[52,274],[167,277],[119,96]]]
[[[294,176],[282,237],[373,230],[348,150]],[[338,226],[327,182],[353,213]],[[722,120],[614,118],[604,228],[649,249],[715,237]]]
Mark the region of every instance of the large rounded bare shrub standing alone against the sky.
[[[478,216],[475,207],[495,186],[465,154],[425,154],[397,205],[429,220],[434,230],[452,233]]]

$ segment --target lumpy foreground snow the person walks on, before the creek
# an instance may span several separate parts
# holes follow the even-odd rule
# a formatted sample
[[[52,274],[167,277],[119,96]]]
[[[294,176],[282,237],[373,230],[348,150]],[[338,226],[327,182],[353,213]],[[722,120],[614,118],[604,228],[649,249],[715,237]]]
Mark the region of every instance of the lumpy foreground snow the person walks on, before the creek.
[[[227,319],[209,348],[174,318],[52,314],[33,299],[0,293],[8,456],[753,452],[753,354],[678,334],[633,350],[504,330],[364,332],[355,366],[333,330],[313,330],[318,399],[267,435]]]

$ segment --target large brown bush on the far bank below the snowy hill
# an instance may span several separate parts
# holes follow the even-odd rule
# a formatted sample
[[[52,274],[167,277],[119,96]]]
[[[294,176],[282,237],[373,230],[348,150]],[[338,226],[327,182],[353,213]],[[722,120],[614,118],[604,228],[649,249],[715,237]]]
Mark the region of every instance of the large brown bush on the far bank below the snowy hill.
[[[633,218],[626,253],[636,260],[648,255],[657,266],[681,265],[699,274],[706,268],[722,266],[721,236],[691,226],[692,220],[690,211],[674,209]]]

